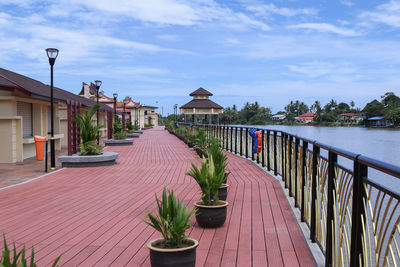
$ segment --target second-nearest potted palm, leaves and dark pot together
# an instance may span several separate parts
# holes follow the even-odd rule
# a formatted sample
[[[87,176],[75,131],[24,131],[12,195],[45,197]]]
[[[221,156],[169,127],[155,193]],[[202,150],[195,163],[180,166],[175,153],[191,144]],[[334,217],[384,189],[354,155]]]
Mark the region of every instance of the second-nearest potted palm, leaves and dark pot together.
[[[225,180],[225,173],[216,171],[214,159],[210,155],[208,159],[203,156],[200,169],[192,164],[192,169],[187,175],[196,180],[202,192],[202,200],[194,204],[198,210],[197,223],[204,228],[222,226],[226,220],[226,207],[229,203],[219,199],[218,189]]]

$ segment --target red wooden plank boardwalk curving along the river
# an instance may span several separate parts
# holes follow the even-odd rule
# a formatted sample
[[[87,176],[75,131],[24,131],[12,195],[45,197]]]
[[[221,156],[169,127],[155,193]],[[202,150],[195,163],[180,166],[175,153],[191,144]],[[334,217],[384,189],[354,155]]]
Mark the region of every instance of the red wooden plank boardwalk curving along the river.
[[[149,266],[146,244],[160,235],[142,219],[155,208],[154,193],[166,185],[193,207],[200,194],[185,173],[199,158],[161,128],[110,150],[120,153],[117,165],[63,169],[0,190],[0,233],[18,246],[34,245],[38,266],[60,254],[64,266]],[[192,228],[200,242],[196,266],[314,266],[280,184],[251,162],[228,157],[227,221]]]

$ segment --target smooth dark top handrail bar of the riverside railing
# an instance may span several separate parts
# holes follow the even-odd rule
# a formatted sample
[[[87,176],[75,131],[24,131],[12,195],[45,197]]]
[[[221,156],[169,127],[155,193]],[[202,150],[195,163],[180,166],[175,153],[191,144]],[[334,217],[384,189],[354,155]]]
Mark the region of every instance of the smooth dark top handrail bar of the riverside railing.
[[[190,123],[187,123],[187,122],[183,122],[183,123],[182,122],[178,122],[178,124],[190,125]],[[232,125],[222,125],[222,124],[193,124],[193,126],[211,126],[211,125],[212,126],[219,126],[219,127],[244,128],[244,129],[254,128],[254,127],[250,127],[250,126],[232,126]],[[288,135],[288,136],[295,137],[295,138],[300,139],[300,140],[302,140],[304,142],[312,144],[313,146],[316,145],[316,146],[318,146],[320,148],[323,148],[325,150],[331,151],[331,152],[333,152],[335,154],[338,154],[338,155],[340,155],[342,157],[348,158],[350,160],[358,161],[359,163],[364,164],[364,165],[366,165],[368,167],[377,169],[377,170],[379,170],[381,172],[384,172],[386,174],[389,174],[389,175],[395,176],[397,178],[400,178],[400,166],[396,166],[396,165],[393,165],[393,164],[390,164],[390,163],[386,163],[386,162],[383,162],[383,161],[380,161],[380,160],[376,160],[376,159],[373,159],[373,158],[370,158],[370,157],[367,157],[367,156],[363,156],[361,154],[356,154],[356,153],[353,153],[353,152],[350,152],[350,151],[347,151],[347,150],[344,150],[344,149],[341,149],[341,148],[337,148],[337,147],[334,147],[334,146],[329,146],[329,145],[326,145],[324,143],[318,142],[316,140],[311,140],[311,139],[308,139],[308,138],[300,137],[300,136],[297,136],[297,135],[294,135],[294,134],[291,134],[291,133],[287,133],[287,132],[284,132],[284,131],[281,131],[281,130],[260,129],[260,128],[256,128],[256,129],[257,130],[277,132],[277,133],[281,133],[281,135],[285,134],[285,135]]]

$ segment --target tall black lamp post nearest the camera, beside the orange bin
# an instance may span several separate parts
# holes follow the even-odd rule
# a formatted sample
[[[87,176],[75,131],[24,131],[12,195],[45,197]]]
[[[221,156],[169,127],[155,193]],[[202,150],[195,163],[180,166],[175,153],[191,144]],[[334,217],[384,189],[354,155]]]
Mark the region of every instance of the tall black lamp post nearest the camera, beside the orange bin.
[[[47,48],[46,49],[47,57],[49,58],[50,63],[50,121],[51,121],[51,132],[50,132],[50,170],[56,169],[56,154],[55,154],[55,143],[54,143],[54,98],[53,98],[53,66],[56,62],[56,58],[58,56],[58,49],[56,48]],[[47,153],[47,151],[46,151]]]

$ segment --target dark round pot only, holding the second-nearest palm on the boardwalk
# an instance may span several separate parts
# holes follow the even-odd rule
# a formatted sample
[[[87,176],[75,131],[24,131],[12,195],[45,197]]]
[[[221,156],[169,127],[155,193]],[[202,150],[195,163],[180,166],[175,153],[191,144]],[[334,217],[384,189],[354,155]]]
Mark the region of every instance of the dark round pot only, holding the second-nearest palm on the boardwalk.
[[[222,226],[226,220],[226,207],[229,205],[226,201],[219,201],[219,205],[206,206],[203,201],[194,203],[197,208],[196,221],[203,228],[217,228]]]

